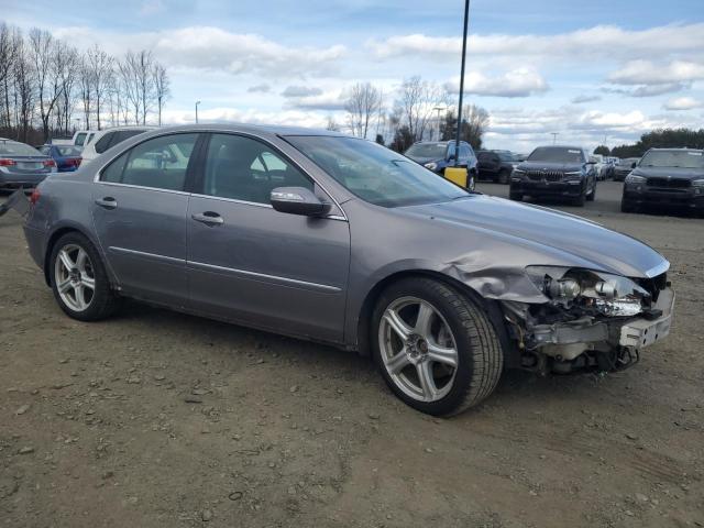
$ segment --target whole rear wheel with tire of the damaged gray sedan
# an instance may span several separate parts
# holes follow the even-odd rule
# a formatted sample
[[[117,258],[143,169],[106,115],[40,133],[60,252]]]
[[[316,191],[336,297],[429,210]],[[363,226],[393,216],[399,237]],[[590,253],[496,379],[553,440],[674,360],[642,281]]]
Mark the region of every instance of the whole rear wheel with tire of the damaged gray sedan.
[[[58,239],[50,266],[54,297],[69,317],[97,321],[118,307],[100,254],[82,234],[72,232]]]

